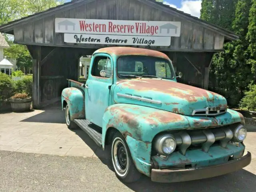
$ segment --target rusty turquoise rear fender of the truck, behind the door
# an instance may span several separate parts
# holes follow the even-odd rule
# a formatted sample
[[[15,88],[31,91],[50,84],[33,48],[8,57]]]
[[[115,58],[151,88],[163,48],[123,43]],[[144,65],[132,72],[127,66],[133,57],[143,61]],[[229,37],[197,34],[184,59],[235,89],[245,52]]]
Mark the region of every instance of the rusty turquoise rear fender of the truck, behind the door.
[[[75,87],[65,88],[61,94],[61,101],[62,109],[64,101],[67,102],[71,120],[85,118],[85,99],[83,90]]]

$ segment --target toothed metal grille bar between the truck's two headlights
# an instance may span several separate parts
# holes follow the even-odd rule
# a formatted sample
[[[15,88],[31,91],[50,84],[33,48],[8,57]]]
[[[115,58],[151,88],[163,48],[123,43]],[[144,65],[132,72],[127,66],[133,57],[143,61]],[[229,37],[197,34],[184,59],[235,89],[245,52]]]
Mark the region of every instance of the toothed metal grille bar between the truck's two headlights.
[[[201,148],[204,152],[208,152],[213,144],[226,148],[228,142],[233,138],[231,129],[230,126],[223,126],[198,130],[182,130],[173,135],[177,142],[177,149],[182,155],[185,155],[187,150],[193,150],[194,148]]]

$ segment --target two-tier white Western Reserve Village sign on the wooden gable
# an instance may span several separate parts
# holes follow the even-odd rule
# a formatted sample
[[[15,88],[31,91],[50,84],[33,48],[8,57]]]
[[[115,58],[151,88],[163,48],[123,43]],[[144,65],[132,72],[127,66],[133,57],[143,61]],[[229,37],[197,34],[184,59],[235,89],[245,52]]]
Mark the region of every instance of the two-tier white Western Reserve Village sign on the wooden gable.
[[[170,46],[180,27],[172,21],[55,18],[55,32],[64,33],[67,43]]]

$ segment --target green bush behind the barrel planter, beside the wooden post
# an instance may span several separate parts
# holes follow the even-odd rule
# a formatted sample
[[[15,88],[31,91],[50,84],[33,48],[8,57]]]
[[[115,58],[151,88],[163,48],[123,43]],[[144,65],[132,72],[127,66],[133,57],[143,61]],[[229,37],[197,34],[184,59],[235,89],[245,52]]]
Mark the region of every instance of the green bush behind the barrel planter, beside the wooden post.
[[[25,76],[24,79],[14,82],[15,93],[27,93],[32,97],[33,76]]]

